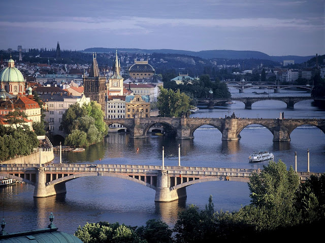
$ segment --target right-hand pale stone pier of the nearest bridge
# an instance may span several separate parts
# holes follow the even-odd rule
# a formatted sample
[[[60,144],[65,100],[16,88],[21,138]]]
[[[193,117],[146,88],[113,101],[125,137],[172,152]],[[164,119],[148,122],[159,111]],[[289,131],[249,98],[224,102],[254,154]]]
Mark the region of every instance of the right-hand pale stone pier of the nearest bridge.
[[[186,187],[176,190],[170,189],[170,180],[167,170],[158,171],[155,201],[168,203],[186,197]]]

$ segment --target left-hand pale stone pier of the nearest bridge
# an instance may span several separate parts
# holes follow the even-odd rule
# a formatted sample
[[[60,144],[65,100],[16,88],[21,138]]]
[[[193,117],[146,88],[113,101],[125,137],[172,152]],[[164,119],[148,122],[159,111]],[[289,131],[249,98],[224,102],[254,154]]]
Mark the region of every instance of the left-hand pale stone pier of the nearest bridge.
[[[46,185],[46,174],[44,167],[37,169],[34,197],[47,197],[66,192],[67,188],[65,182],[61,182],[55,185]]]

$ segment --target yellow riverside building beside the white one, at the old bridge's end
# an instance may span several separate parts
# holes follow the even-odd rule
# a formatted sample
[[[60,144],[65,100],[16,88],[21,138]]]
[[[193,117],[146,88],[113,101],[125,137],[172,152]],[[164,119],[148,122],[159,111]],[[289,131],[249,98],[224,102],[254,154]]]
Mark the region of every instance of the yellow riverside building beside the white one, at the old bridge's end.
[[[125,98],[126,118],[150,117],[150,98],[148,95],[129,95]]]

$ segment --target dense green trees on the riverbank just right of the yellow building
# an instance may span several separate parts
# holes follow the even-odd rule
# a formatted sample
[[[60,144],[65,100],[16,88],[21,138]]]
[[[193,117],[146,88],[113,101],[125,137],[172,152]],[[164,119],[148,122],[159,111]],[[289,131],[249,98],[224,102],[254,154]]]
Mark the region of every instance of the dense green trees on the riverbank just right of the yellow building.
[[[157,107],[160,116],[180,117],[190,110],[190,98],[179,90],[167,90],[159,87],[160,95],[158,96]]]

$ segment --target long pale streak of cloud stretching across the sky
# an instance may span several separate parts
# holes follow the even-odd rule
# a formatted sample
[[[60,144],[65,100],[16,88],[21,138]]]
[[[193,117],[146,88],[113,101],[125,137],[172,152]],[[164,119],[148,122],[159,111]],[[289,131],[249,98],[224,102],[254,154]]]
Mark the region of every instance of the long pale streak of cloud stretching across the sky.
[[[47,28],[60,30],[134,30],[151,32],[157,26],[165,27],[200,27],[200,28],[324,28],[324,23],[318,19],[279,19],[279,18],[232,18],[232,19],[190,19],[190,18],[150,18],[150,17],[120,17],[119,19],[72,17],[60,21],[0,21],[2,27],[17,28]]]

